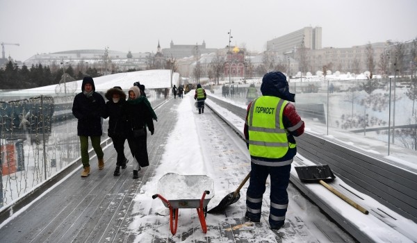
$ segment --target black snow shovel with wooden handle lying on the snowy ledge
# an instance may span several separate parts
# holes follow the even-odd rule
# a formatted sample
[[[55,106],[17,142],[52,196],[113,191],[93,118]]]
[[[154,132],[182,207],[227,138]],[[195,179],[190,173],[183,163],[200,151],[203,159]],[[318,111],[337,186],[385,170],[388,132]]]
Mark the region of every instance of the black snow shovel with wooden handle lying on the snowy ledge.
[[[343,199],[343,201],[349,203],[357,210],[368,215],[368,210],[360,206],[358,203],[355,203],[354,201],[352,201],[352,199],[349,199],[347,196],[345,196],[338,190],[334,189],[334,187],[332,187],[331,185],[327,184],[327,182],[332,182],[334,178],[336,178],[329,165],[311,165],[294,168],[295,171],[297,171],[298,178],[300,178],[300,181],[304,183],[319,182],[321,185],[324,185],[330,192],[333,192],[334,194],[336,194],[336,196]]]

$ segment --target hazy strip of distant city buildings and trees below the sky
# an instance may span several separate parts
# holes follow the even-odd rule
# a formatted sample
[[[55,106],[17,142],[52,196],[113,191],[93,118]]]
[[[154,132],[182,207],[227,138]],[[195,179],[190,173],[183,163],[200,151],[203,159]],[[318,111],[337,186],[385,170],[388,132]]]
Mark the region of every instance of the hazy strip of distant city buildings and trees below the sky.
[[[202,44],[174,44],[155,51],[131,53],[111,49],[83,49],[35,54],[15,65],[42,65],[54,69],[69,67],[83,70],[93,67],[99,74],[146,69],[172,69],[182,78],[231,77],[243,80],[280,70],[288,76],[316,75],[317,72],[341,72],[378,75],[416,75],[417,39],[409,42],[376,42],[349,48],[322,47],[322,28],[304,27],[273,40],[266,41],[266,51],[252,53],[245,47],[207,48]],[[3,44],[2,44],[3,45]],[[3,47],[4,49],[4,47]],[[0,67],[13,61],[3,56]]]

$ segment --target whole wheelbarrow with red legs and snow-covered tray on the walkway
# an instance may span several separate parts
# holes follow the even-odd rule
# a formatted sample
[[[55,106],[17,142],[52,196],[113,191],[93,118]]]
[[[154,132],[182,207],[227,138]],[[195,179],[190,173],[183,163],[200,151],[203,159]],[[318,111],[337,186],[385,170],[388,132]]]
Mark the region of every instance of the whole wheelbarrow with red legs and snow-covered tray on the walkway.
[[[203,233],[207,233],[207,204],[213,198],[213,180],[205,175],[179,175],[168,173],[158,181],[158,194],[152,199],[161,199],[163,205],[170,209],[170,230],[177,233],[179,208],[195,208],[202,225]]]

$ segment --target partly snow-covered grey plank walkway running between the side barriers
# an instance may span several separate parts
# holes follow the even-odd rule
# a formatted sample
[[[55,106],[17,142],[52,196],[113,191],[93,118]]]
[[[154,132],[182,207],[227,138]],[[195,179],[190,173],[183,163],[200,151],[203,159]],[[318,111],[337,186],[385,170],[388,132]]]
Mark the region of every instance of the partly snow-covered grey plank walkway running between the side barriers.
[[[151,165],[140,171],[139,180],[131,178],[127,147],[128,167],[121,176],[113,176],[116,155],[113,146],[107,146],[102,171],[94,157],[90,176],[81,178],[80,168],[15,212],[0,228],[1,242],[354,242],[293,186],[288,188],[287,222],[277,235],[268,226],[269,190],[261,224],[243,219],[245,185],[239,201],[224,215],[207,215],[206,234],[197,212],[184,208],[179,210],[177,234],[172,236],[167,208],[161,200],[152,199],[161,176],[174,172],[213,178],[210,209],[236,190],[250,164],[243,140],[208,108],[198,115],[189,94],[163,101],[155,110],[155,134],[148,133]]]

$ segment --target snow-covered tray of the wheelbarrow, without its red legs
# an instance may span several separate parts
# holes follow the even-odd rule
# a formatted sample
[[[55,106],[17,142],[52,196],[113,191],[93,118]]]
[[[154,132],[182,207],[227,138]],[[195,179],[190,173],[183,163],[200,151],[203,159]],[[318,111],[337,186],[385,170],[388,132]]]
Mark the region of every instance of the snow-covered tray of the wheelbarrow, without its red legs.
[[[209,191],[203,200],[205,208],[214,196],[213,179],[206,175],[167,173],[159,179],[157,187],[158,194],[164,196],[172,208],[199,208],[203,193]],[[165,201],[163,204],[168,208]]]

